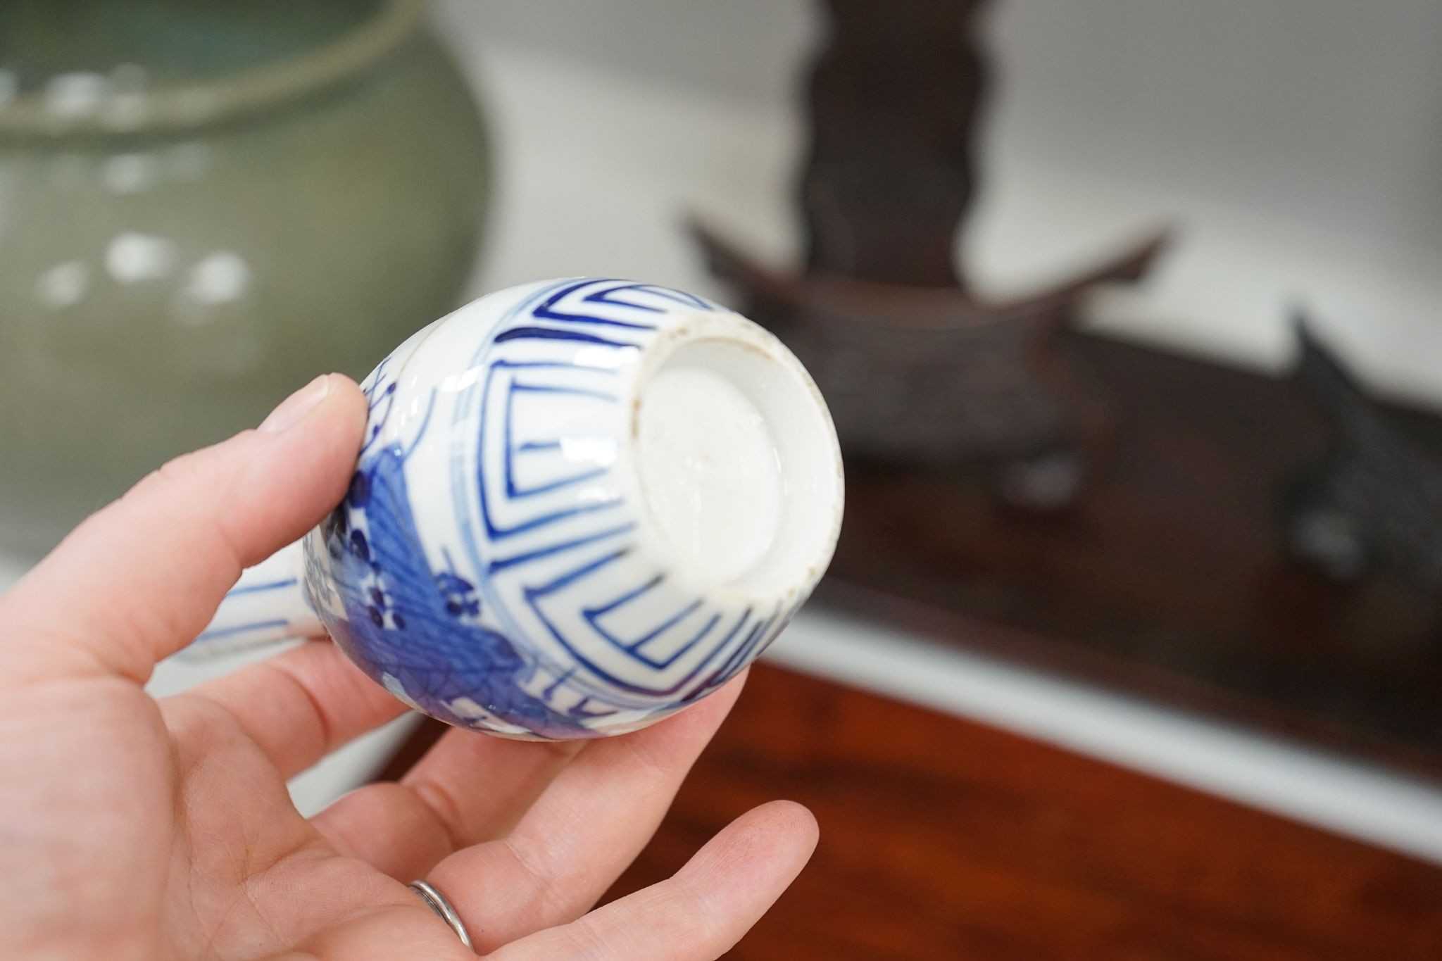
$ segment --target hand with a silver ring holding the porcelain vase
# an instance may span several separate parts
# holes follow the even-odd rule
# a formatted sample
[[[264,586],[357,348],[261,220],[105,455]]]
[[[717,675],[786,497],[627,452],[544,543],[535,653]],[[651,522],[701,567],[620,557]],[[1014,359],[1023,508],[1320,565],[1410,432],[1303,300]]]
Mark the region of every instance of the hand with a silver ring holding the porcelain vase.
[[[492,958],[715,958],[802,869],[815,821],[777,801],[590,911],[740,679],[584,746],[448,730],[402,782],[310,820],[286,779],[404,710],[333,644],[146,694],[241,569],[340,500],[363,421],[355,385],[323,377],[147,477],[0,596],[0,957],[473,957],[405,888],[425,877]]]

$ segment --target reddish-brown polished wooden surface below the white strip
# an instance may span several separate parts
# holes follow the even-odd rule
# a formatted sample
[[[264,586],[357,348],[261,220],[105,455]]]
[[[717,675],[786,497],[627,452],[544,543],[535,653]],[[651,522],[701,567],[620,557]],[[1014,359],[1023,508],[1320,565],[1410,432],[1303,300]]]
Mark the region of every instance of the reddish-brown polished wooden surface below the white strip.
[[[610,896],[777,797],[820,846],[731,958],[1442,958],[1442,869],[766,666]]]

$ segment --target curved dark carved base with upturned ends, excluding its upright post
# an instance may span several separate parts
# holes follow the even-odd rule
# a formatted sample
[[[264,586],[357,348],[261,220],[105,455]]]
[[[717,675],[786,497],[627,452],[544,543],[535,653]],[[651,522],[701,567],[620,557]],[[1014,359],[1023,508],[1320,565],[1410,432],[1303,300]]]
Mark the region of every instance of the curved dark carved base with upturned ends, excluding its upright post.
[[[848,462],[978,467],[1001,500],[1030,509],[1076,500],[1105,468],[1115,405],[1057,341],[1089,290],[1141,280],[1165,233],[999,303],[960,287],[773,271],[711,231],[692,231],[743,310],[810,370]]]

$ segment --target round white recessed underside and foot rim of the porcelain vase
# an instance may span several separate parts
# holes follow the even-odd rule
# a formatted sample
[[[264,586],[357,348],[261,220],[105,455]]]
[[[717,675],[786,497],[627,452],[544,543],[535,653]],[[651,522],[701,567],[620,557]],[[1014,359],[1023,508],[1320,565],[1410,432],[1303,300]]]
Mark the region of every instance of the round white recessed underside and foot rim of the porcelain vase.
[[[678,576],[757,605],[809,591],[841,530],[841,454],[816,385],[769,333],[696,314],[653,344],[632,457]]]

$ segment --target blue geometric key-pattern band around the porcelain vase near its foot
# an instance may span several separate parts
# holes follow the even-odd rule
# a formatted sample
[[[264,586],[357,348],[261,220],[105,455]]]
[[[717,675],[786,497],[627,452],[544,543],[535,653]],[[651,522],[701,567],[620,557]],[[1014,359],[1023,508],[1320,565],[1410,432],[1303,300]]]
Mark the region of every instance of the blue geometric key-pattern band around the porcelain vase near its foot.
[[[532,644],[545,680],[534,692],[558,710],[689,703],[793,614],[718,604],[673,584],[633,543],[639,506],[610,477],[606,438],[624,437],[630,416],[617,403],[623,370],[658,330],[724,310],[653,284],[574,280],[518,304],[476,357],[485,375],[457,411],[474,411],[480,425],[479,455],[456,478],[474,490],[464,499],[474,507],[467,547],[502,630]],[[575,415],[516,416],[519,405],[548,396],[564,396]],[[525,434],[538,425],[564,434]],[[559,452],[585,444],[596,445],[596,465],[577,473]],[[577,487],[588,494],[581,503]]]

